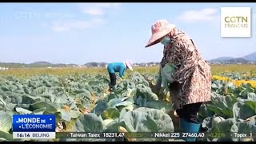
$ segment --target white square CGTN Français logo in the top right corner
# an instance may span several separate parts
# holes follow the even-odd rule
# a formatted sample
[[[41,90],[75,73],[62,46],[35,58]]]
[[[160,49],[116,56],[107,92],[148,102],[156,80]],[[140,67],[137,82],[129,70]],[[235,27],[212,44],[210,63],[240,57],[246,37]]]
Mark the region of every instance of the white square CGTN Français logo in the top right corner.
[[[251,7],[222,7],[221,36],[251,37]]]

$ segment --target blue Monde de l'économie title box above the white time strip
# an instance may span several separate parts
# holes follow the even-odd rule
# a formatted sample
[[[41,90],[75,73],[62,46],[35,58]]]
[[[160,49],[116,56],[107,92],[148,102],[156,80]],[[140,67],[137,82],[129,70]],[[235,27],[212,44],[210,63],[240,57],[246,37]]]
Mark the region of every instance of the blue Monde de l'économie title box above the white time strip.
[[[55,132],[55,115],[13,115],[14,132]]]

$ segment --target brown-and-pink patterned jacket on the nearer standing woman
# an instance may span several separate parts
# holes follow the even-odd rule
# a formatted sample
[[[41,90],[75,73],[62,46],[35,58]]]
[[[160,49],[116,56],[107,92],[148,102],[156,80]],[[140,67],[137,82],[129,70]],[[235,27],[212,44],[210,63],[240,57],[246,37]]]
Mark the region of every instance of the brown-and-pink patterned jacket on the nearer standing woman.
[[[175,28],[170,39],[170,44],[164,46],[160,71],[169,62],[178,66],[173,75],[176,82],[170,84],[174,109],[181,109],[190,103],[210,101],[210,66],[202,59],[197,46],[184,32]]]

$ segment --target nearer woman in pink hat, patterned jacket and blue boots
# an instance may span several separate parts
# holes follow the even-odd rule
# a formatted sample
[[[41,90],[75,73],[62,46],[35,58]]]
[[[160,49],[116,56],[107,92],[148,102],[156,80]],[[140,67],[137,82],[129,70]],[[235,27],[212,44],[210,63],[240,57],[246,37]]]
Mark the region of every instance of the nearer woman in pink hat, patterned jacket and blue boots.
[[[198,110],[202,102],[210,102],[211,72],[210,66],[198,53],[192,39],[166,20],[158,20],[151,27],[152,35],[146,47],[158,42],[164,45],[163,58],[160,62],[160,77],[154,90],[161,87],[161,70],[167,63],[177,66],[172,74],[174,82],[169,83],[174,110],[180,119],[183,132],[198,132]],[[195,141],[195,138],[185,138]]]

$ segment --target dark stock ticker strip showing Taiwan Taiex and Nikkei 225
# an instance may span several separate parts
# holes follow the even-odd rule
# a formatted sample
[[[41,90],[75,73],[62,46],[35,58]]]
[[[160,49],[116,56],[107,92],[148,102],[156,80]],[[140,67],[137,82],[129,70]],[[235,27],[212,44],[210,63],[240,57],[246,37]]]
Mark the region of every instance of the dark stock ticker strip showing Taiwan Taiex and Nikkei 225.
[[[58,132],[56,138],[254,138],[254,133],[161,133],[161,132],[130,132],[130,133],[94,133],[94,132]]]

